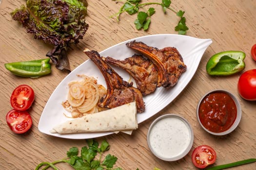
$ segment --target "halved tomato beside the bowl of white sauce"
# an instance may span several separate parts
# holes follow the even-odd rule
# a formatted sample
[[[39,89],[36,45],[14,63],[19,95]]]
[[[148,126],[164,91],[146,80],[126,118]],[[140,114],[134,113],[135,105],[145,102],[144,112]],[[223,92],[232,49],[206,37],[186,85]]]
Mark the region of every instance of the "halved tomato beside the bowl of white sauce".
[[[214,164],[216,156],[216,152],[212,147],[201,145],[193,151],[192,162],[197,168],[203,169],[208,165]]]

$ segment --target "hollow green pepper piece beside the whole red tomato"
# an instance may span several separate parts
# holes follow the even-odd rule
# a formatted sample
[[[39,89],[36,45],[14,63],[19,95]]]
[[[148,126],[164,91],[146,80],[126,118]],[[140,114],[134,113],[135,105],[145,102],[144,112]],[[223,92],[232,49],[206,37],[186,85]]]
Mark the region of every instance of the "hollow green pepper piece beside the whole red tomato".
[[[242,51],[223,51],[213,55],[206,64],[210,75],[231,75],[245,68],[245,53]]]

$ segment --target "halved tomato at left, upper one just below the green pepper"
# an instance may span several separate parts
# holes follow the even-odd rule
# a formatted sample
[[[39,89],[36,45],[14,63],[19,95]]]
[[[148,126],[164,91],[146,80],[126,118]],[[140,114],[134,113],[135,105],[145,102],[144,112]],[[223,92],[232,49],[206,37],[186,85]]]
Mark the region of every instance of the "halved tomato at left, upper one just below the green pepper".
[[[11,105],[15,110],[27,110],[34,100],[34,90],[29,85],[19,85],[11,95]]]

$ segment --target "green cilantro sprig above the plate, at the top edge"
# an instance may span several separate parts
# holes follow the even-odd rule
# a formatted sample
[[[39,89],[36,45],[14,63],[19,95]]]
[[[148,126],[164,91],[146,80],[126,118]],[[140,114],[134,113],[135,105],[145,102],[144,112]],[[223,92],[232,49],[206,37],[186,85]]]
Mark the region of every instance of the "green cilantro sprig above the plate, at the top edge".
[[[147,5],[161,5],[163,12],[166,13],[166,9],[171,10],[172,12],[176,13],[177,17],[180,17],[180,20],[175,27],[175,31],[178,32],[178,34],[186,34],[188,27],[186,26],[186,18],[183,17],[185,11],[176,11],[171,5],[171,0],[162,0],[161,3],[158,2],[147,2],[147,3],[141,3],[141,0],[115,0],[116,2],[123,2],[124,4],[120,7],[118,13],[114,14],[113,17],[117,18],[117,21],[120,21],[120,15],[124,12],[127,12],[129,15],[138,14],[136,20],[134,21],[135,27],[137,30],[143,29],[144,31],[147,31],[149,28],[149,25],[151,23],[151,16],[156,13],[155,8],[149,8],[145,9],[144,6]],[[141,11],[140,9],[143,9],[144,11]]]

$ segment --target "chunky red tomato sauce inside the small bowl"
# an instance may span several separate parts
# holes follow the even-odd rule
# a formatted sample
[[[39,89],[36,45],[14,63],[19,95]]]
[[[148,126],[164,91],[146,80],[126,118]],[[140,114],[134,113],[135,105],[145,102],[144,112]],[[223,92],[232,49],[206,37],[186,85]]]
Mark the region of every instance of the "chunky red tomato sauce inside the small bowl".
[[[236,119],[236,104],[225,92],[208,94],[200,103],[198,116],[202,125],[211,132],[228,130]]]

